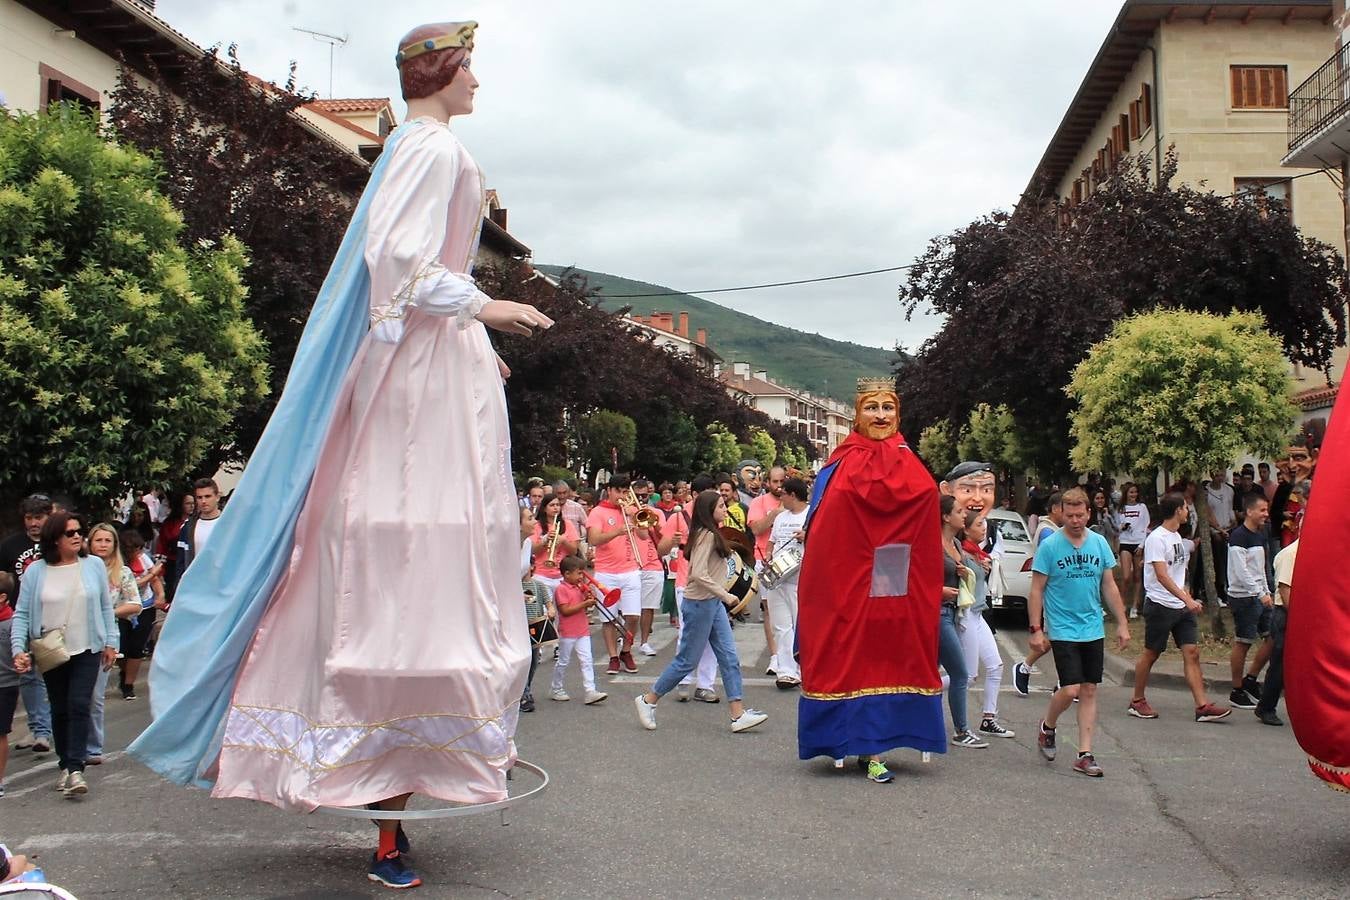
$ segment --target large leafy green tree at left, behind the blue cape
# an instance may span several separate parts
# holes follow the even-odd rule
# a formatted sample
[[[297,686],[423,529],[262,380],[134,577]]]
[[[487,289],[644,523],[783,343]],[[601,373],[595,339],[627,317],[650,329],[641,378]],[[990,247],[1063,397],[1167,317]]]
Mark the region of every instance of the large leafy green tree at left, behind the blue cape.
[[[185,246],[159,178],[74,108],[0,111],[3,497],[66,490],[103,510],[188,475],[267,393],[243,244]]]

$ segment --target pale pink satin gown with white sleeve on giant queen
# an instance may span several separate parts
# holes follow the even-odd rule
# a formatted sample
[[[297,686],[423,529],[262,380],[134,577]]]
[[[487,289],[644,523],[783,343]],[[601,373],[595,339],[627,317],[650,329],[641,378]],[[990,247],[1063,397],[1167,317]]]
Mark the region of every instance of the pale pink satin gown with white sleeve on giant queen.
[[[370,206],[373,328],[225,716],[217,797],[506,796],[529,638],[506,399],[467,274],[483,184],[446,125],[404,127]]]

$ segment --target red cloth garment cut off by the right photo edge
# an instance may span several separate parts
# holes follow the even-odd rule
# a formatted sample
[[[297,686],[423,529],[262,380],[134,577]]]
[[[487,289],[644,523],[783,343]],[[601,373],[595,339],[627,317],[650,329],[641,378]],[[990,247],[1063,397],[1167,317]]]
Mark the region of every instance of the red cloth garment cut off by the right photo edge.
[[[1284,645],[1285,707],[1312,772],[1350,791],[1350,401],[1342,387],[1312,479],[1289,586]]]

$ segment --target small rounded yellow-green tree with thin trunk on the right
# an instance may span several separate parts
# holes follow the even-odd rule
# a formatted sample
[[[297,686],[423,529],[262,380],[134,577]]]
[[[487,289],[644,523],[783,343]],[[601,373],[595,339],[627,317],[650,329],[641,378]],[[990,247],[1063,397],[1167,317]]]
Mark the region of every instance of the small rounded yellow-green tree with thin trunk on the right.
[[[1126,318],[1094,347],[1065,389],[1080,471],[1204,480],[1243,452],[1273,457],[1297,418],[1280,339],[1257,313],[1180,310]],[[1204,491],[1196,491],[1202,579],[1214,586]],[[1218,619],[1218,604],[1211,607]],[[1222,626],[1216,626],[1222,631]]]

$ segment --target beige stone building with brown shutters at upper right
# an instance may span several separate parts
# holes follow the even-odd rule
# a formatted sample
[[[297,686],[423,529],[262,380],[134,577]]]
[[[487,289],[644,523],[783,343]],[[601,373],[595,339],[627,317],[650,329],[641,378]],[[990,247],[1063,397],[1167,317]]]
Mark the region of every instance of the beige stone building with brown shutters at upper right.
[[[1073,205],[1122,155],[1148,152],[1157,171],[1174,146],[1176,181],[1277,198],[1299,231],[1345,252],[1339,169],[1328,177],[1324,163],[1291,154],[1288,144],[1291,88],[1327,62],[1335,19],[1331,0],[1126,0],[1027,196],[1049,188]],[[1300,391],[1324,394],[1323,372],[1291,368]],[[1345,370],[1346,349],[1339,348],[1332,381]]]

